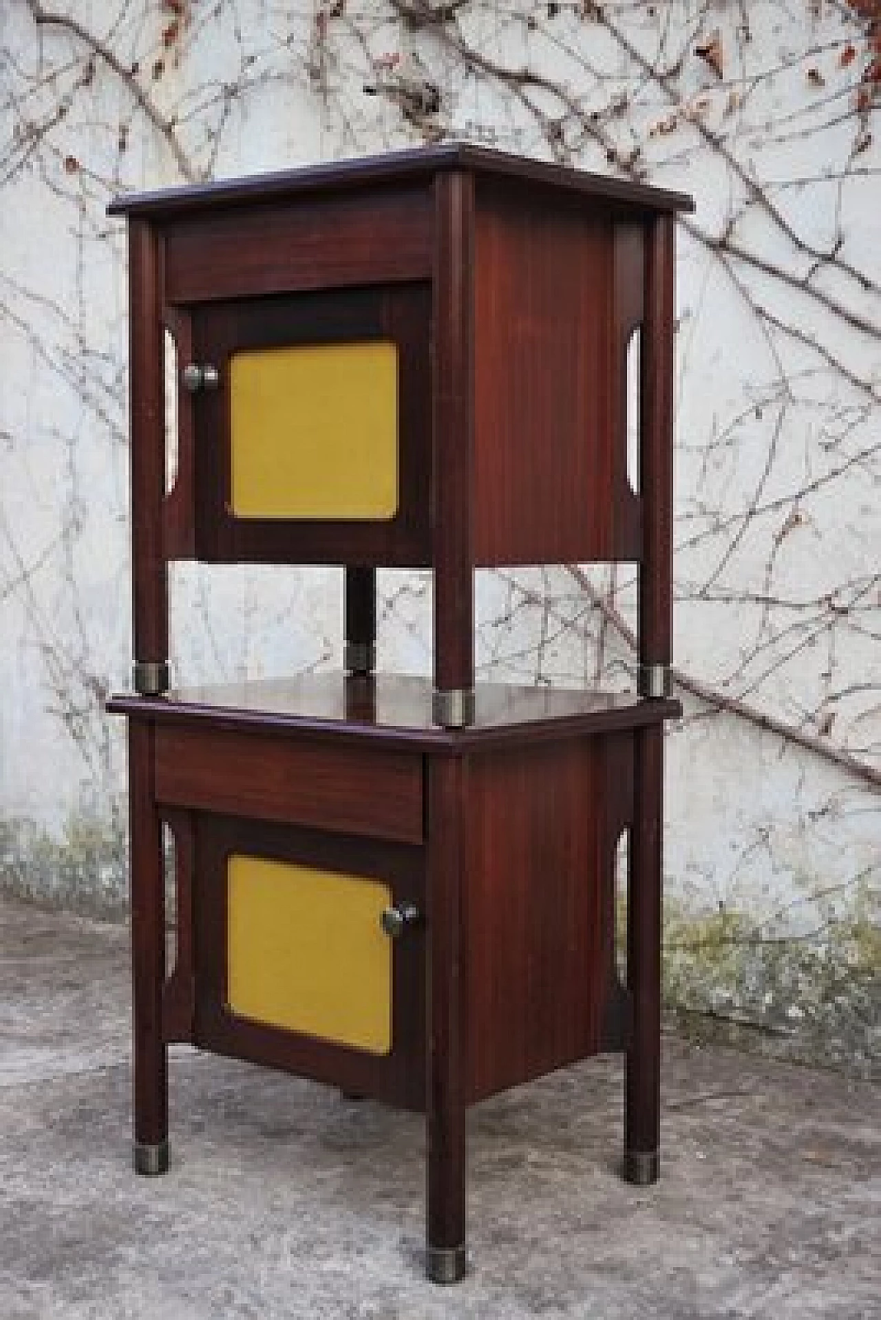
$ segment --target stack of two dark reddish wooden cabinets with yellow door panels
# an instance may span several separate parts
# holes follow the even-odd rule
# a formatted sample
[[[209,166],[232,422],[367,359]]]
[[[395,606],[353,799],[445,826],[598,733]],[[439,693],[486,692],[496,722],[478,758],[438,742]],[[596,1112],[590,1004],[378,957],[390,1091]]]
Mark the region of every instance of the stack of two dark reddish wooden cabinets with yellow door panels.
[[[465,1269],[474,1101],[623,1049],[625,1172],[656,1176],[689,206],[450,145],[111,207],[129,251],[135,690],[108,709],[129,731],[139,1172],[168,1167],[166,1047],[192,1041],[424,1110],[439,1282]],[[343,672],[169,690],[176,558],[345,565]],[[476,686],[474,569],[585,560],[639,566],[641,694]],[[376,566],[433,569],[432,681],[374,673]]]

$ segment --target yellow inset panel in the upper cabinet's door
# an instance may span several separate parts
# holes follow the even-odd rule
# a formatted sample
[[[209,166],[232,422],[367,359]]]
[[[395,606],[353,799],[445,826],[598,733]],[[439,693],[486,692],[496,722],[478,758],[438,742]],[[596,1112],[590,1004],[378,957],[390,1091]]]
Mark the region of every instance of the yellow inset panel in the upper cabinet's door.
[[[234,354],[230,437],[236,517],[394,517],[396,346],[339,343]]]

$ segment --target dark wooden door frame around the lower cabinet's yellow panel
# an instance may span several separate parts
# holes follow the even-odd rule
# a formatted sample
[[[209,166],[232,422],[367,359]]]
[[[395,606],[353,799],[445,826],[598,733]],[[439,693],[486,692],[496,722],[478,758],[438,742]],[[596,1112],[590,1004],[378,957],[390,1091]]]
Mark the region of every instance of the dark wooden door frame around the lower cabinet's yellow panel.
[[[194,1043],[330,1082],[346,1092],[421,1110],[425,1098],[424,849],[293,825],[195,814],[193,884]],[[229,1008],[227,862],[265,858],[386,883],[395,904],[412,903],[423,921],[391,941],[391,1049],[374,1055],[250,1018]],[[357,987],[355,987],[357,989]]]

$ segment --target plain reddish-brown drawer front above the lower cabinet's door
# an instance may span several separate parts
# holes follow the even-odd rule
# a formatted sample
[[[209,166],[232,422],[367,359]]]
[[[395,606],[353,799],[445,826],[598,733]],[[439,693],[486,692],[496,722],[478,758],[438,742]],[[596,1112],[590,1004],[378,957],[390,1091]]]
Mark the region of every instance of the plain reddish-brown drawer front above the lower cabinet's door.
[[[156,726],[156,800],[337,833],[423,840],[423,764],[332,742]]]

